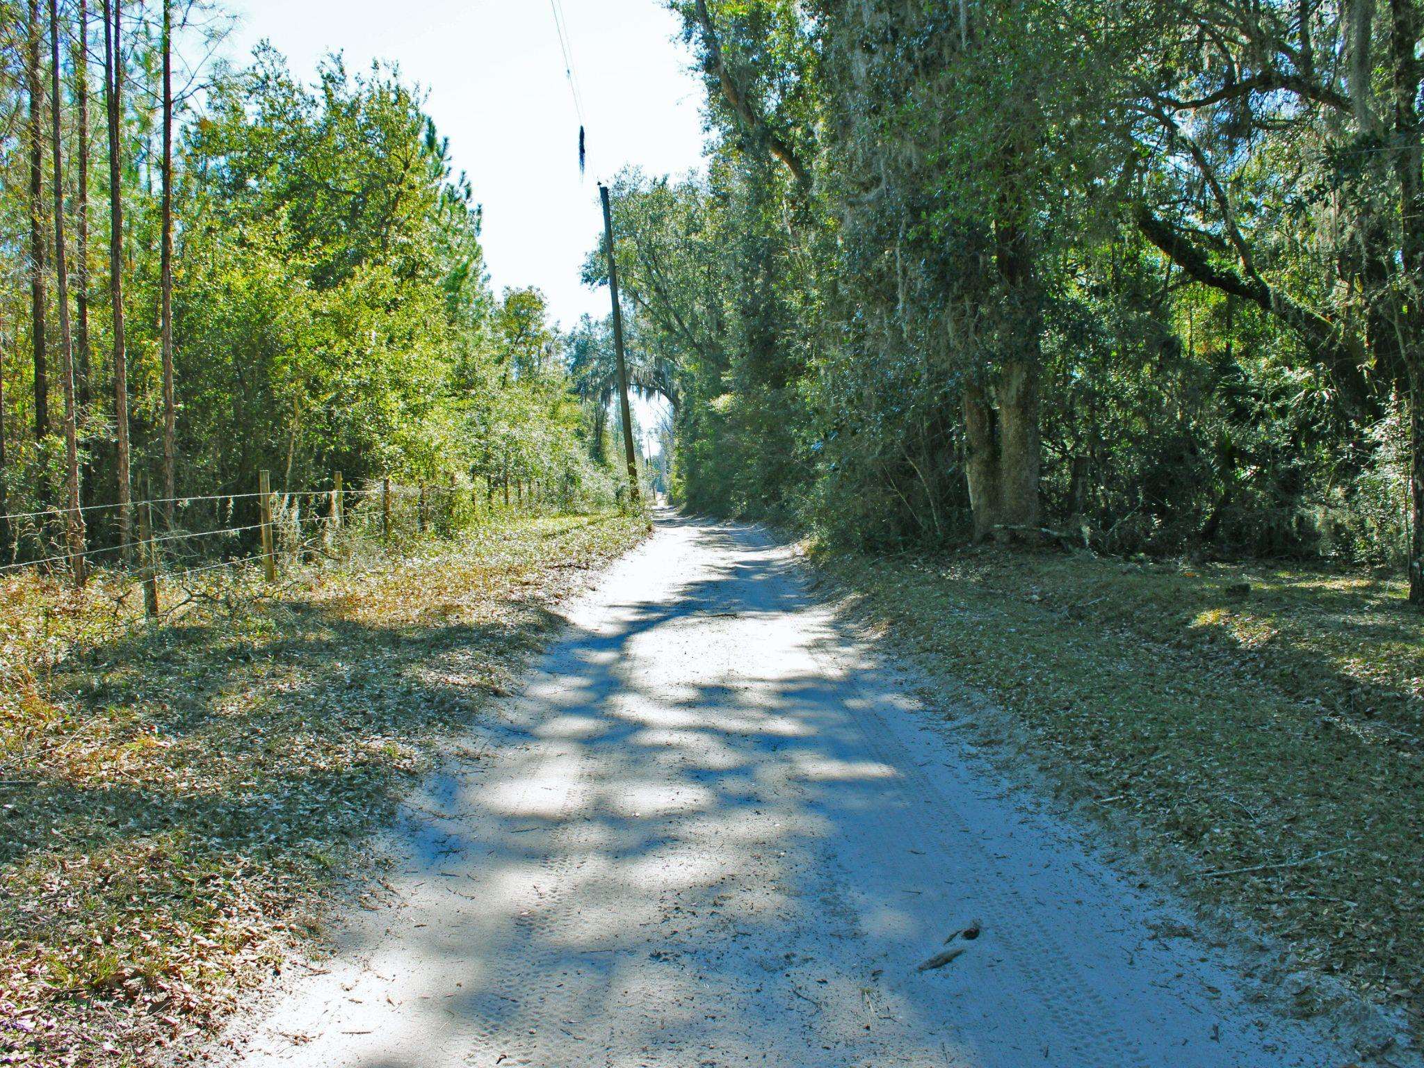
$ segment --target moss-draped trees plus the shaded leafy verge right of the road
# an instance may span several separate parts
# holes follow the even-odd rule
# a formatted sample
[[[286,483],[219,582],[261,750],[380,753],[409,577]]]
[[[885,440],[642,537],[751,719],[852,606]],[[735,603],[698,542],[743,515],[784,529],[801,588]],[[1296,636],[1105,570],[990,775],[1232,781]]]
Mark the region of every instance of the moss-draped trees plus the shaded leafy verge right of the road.
[[[614,209],[675,497],[1418,1022],[1424,4],[668,6],[706,167]]]

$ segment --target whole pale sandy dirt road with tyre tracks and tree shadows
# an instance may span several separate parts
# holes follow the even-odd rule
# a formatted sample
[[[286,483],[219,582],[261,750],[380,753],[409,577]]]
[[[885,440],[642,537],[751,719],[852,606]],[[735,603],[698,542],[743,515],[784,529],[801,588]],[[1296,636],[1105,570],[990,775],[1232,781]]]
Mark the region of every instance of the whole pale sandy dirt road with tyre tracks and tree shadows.
[[[665,518],[222,1054],[322,1068],[1346,1065],[944,739],[749,528]],[[946,936],[983,934],[943,968]]]

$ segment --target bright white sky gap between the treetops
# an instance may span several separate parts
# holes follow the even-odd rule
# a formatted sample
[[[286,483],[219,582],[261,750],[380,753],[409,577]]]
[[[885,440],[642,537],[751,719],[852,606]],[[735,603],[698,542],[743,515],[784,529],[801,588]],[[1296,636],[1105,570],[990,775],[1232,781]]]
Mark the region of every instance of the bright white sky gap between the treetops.
[[[496,290],[540,286],[568,328],[584,312],[608,312],[608,290],[578,281],[602,226],[598,179],[625,164],[649,174],[696,167],[702,125],[701,85],[661,0],[561,4],[588,124],[582,182],[550,0],[231,0],[242,21],[228,54],[246,56],[266,37],[306,80],[330,51],[352,71],[397,63],[429,93],[454,167],[484,205]]]

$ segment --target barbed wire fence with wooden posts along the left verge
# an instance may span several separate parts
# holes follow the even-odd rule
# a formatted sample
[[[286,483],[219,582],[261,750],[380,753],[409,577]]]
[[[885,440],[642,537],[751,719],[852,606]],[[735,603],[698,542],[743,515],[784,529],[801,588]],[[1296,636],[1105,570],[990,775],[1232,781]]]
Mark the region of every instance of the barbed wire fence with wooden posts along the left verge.
[[[9,557],[0,562],[0,590],[28,580],[67,587],[77,597],[101,590],[117,602],[137,594],[144,617],[161,618],[214,595],[216,587],[271,588],[289,568],[350,561],[362,553],[396,557],[420,540],[449,538],[560,501],[555,487],[541,480],[373,478],[347,487],[333,471],[326,488],[275,490],[262,471],[251,493],[90,504],[78,510],[83,523],[73,523],[71,510],[61,506],[0,514]],[[70,548],[75,527],[95,537]],[[125,531],[137,537],[125,538]],[[105,544],[94,544],[101,538]]]

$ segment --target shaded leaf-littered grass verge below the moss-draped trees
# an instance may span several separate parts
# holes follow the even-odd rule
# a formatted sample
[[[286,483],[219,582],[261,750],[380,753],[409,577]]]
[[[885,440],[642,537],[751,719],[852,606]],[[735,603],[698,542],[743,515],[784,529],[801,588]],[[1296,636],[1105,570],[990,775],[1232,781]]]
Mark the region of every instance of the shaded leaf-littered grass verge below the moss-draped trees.
[[[1424,641],[1401,584],[1087,555],[813,553],[1185,880],[1424,1021]],[[1299,988],[1299,990],[1297,990]],[[1292,984],[1303,1012],[1326,997]]]

